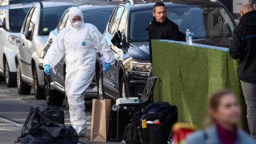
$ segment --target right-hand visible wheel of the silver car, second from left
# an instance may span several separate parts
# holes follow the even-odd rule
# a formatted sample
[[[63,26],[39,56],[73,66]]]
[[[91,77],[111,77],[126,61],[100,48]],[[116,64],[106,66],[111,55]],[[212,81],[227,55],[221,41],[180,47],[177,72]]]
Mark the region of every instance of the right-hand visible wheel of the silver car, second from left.
[[[37,100],[44,99],[44,89],[42,89],[38,83],[36,65],[34,66],[34,90],[35,90],[35,97]]]

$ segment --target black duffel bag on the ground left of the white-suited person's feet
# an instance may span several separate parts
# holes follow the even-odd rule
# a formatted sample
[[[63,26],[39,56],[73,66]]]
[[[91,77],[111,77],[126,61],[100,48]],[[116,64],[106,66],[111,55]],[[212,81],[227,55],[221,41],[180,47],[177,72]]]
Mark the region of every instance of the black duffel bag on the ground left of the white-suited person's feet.
[[[35,109],[38,108],[35,107]],[[34,108],[30,113],[34,112]],[[29,113],[29,114],[30,114]],[[74,127],[52,121],[39,113],[33,113],[30,121],[24,124],[18,142],[21,143],[77,143],[78,135]],[[32,119],[33,118],[33,119]],[[28,119],[28,118],[27,118]]]

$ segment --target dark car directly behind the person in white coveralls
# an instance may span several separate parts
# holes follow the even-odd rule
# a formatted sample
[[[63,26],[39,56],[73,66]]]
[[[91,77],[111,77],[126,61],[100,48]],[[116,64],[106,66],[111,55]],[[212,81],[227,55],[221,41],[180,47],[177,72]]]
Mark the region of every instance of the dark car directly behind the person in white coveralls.
[[[95,25],[101,33],[104,32],[107,22],[111,13],[115,9],[116,5],[121,2],[101,2],[101,3],[85,3],[77,5],[83,12],[84,22],[92,23]],[[59,34],[59,31],[70,25],[68,21],[69,9],[66,10],[62,18],[59,21],[57,28],[52,30],[49,35],[49,39],[45,44],[44,52],[47,53],[54,41],[55,37]],[[45,55],[44,54],[44,55]],[[45,75],[45,98],[47,105],[59,105],[63,102],[63,95],[65,93],[65,74],[66,74],[66,60],[65,55],[60,62],[50,70],[51,75]],[[94,76],[91,85],[85,91],[85,100],[97,98],[97,82]],[[68,107],[67,97],[65,97],[66,107]]]

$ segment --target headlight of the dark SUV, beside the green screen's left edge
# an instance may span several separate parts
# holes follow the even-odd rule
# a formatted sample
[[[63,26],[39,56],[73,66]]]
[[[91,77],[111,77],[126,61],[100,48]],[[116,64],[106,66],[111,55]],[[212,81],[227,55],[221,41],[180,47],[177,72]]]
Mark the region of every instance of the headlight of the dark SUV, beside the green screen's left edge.
[[[130,62],[130,69],[133,75],[136,76],[148,76],[151,63],[147,62]]]

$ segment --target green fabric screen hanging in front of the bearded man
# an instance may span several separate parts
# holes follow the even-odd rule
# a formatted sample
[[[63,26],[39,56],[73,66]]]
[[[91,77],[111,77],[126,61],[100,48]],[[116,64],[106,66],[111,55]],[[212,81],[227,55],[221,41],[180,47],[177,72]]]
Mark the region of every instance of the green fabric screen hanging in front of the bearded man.
[[[227,49],[152,40],[152,51],[153,76],[158,77],[154,100],[177,106],[179,122],[202,128],[209,95],[226,87],[235,92],[240,103],[239,126],[248,129],[246,105],[236,74],[237,60],[230,57]]]

